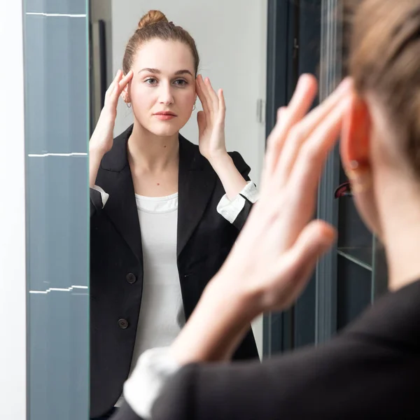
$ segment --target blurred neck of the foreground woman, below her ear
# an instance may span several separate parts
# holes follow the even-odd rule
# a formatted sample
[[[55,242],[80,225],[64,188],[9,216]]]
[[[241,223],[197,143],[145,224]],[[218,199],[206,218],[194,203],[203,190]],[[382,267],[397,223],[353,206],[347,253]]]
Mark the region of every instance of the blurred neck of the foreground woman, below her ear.
[[[386,246],[388,284],[398,290],[420,279],[420,192],[414,181],[382,179],[381,237]]]

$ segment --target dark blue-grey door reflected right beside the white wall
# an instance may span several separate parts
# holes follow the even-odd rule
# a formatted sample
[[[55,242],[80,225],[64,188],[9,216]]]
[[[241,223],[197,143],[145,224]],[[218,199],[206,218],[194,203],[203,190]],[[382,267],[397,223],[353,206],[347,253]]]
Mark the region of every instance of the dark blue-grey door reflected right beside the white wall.
[[[267,133],[276,109],[288,104],[302,73],[316,73],[321,29],[319,1],[269,1],[267,49]],[[264,321],[264,353],[269,356],[314,342],[316,281],[289,311]],[[302,328],[297,326],[302,325]]]

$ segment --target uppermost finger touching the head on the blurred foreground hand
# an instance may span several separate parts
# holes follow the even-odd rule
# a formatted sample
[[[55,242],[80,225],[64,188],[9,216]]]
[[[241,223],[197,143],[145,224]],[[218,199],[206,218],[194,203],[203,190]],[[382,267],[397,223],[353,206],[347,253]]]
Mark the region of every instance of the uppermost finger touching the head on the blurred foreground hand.
[[[289,130],[288,139],[283,145],[283,150],[278,161],[279,170],[276,173],[276,176],[279,176],[279,179],[288,179],[290,170],[295,165],[297,154],[299,153],[302,144],[304,144],[304,141],[309,138],[312,132],[316,130],[316,127],[323,122],[328,114],[331,113],[346,94],[348,94],[350,87],[351,80],[346,79],[337,87],[335,92],[333,92],[328,99],[325,99],[321,105],[317,106],[304,117],[300,123],[297,123]]]

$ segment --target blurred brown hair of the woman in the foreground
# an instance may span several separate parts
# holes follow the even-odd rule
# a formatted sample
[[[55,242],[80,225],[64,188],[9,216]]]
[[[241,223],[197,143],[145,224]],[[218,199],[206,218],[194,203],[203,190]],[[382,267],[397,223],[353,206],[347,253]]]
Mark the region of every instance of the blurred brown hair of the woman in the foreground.
[[[420,178],[420,0],[350,2],[350,75],[379,99]]]

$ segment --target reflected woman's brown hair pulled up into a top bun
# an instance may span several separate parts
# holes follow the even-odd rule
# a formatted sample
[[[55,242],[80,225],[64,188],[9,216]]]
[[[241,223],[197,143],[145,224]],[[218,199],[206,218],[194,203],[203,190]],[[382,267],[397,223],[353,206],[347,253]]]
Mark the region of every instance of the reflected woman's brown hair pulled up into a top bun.
[[[123,71],[125,74],[132,68],[134,57],[141,45],[153,39],[179,41],[186,44],[193,55],[195,74],[197,74],[200,57],[193,37],[182,27],[176,26],[172,22],[168,22],[166,16],[159,10],[149,10],[148,13],[140,19],[136,31],[130,38],[130,41],[128,41],[123,58]]]

